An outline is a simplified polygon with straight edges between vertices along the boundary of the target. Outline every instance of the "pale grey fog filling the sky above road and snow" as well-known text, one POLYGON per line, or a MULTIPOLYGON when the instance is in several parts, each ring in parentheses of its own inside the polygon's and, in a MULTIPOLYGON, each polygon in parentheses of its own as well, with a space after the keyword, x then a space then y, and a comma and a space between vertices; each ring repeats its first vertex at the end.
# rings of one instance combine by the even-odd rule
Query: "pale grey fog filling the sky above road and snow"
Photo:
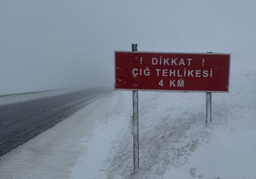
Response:
POLYGON ((231 53, 255 71, 256 1, 0 1, 0 95, 114 87, 114 50, 231 53))

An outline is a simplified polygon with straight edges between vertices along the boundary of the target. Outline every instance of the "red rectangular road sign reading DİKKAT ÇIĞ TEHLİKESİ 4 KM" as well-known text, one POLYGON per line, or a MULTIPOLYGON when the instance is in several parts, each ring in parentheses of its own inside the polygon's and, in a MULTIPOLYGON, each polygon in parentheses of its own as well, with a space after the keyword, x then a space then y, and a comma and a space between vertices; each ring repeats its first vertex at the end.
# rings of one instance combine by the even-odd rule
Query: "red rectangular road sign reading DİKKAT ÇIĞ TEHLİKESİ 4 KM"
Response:
POLYGON ((229 92, 230 54, 115 51, 115 90, 229 92))

